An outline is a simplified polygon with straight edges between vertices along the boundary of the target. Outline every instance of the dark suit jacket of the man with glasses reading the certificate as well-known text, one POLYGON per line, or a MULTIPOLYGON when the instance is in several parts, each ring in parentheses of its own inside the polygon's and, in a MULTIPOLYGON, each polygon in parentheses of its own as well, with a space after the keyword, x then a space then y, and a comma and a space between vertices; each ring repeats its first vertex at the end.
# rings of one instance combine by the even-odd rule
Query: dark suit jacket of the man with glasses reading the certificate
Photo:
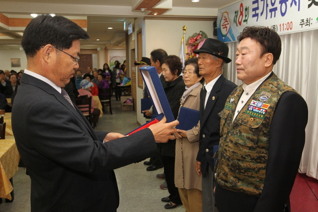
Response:
POLYGON ((12 110, 16 145, 31 178, 32 212, 115 212, 113 169, 156 154, 150 129, 103 143, 53 87, 23 74, 12 110))

